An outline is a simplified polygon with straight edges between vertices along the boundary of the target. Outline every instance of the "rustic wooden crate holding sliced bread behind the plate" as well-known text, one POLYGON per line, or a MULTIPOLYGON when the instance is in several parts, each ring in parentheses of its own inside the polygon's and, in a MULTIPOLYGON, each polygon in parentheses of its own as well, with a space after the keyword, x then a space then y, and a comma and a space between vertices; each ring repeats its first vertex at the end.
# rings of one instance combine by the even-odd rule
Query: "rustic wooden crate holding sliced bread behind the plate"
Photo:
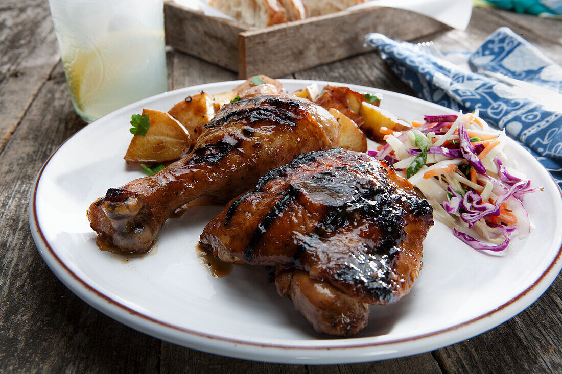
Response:
POLYGON ((284 76, 368 52, 364 38, 370 32, 411 40, 448 28, 418 13, 387 7, 343 11, 256 29, 166 1, 164 20, 166 44, 237 71, 240 78, 284 76))

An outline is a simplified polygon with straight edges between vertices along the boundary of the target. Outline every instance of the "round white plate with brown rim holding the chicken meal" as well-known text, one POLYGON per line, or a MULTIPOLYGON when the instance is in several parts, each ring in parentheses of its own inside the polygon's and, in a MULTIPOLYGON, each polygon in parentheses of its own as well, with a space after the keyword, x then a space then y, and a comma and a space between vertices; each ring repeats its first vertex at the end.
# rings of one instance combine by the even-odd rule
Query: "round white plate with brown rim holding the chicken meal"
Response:
MULTIPOLYGON (((288 92, 310 84, 282 82, 288 92)), ((31 194, 31 232, 51 270, 85 302, 146 334, 211 353, 282 363, 347 363, 427 352, 481 334, 533 303, 558 275, 560 190, 514 142, 508 153, 534 186, 545 188, 525 197, 536 226, 531 236, 513 240, 494 256, 469 248, 437 222, 424 241, 424 266, 410 294, 394 305, 372 307, 368 327, 351 339, 316 335, 268 284, 262 267, 236 266, 220 279, 210 275, 195 247, 220 207, 194 207, 169 220, 146 256, 126 259, 101 252, 86 209, 108 188, 144 175, 123 160, 131 115, 142 108, 166 111, 186 95, 224 92, 237 84, 194 86, 130 104, 84 127, 47 160, 31 194)), ((381 106, 406 120, 451 112, 406 95, 383 95, 381 106)))

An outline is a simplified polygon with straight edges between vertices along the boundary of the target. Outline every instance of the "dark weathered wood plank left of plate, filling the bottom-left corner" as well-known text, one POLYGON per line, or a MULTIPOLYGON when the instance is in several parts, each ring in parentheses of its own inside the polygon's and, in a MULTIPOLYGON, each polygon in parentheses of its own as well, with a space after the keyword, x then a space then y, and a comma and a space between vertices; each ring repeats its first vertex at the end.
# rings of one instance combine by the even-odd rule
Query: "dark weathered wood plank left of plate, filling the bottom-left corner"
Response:
POLYGON ((157 370, 160 341, 75 297, 31 239, 27 206, 35 175, 83 125, 59 64, 0 154, 0 372, 157 370))

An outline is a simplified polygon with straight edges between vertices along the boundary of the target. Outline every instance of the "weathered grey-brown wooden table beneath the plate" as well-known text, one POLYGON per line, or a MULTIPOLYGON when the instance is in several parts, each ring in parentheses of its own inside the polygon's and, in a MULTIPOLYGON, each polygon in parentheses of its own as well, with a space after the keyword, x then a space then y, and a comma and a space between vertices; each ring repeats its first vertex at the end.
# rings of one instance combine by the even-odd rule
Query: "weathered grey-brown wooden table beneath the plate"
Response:
MULTIPOLYGON (((476 8, 468 30, 424 40, 473 49, 509 26, 562 65, 562 22, 476 8)), ((416 40, 423 41, 423 40, 416 40)), ((236 79, 183 53, 168 53, 170 89, 236 79)), ((414 95, 377 53, 292 76, 414 95)), ((0 372, 560 372, 562 277, 531 307, 482 335, 382 362, 337 366, 244 361, 166 343, 121 325, 71 293, 39 256, 28 225, 35 176, 59 144, 84 126, 75 115, 46 0, 0 5, 0 372)))

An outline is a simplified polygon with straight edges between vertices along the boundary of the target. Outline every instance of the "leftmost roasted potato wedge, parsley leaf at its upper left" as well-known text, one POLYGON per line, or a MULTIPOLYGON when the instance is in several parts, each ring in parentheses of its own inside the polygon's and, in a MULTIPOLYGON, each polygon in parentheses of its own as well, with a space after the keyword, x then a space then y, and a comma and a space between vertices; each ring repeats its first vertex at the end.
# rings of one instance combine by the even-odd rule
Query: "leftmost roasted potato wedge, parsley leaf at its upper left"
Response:
POLYGON ((134 135, 125 153, 128 162, 165 162, 183 156, 191 146, 191 138, 178 121, 168 113, 143 109, 150 126, 146 135, 134 135))

